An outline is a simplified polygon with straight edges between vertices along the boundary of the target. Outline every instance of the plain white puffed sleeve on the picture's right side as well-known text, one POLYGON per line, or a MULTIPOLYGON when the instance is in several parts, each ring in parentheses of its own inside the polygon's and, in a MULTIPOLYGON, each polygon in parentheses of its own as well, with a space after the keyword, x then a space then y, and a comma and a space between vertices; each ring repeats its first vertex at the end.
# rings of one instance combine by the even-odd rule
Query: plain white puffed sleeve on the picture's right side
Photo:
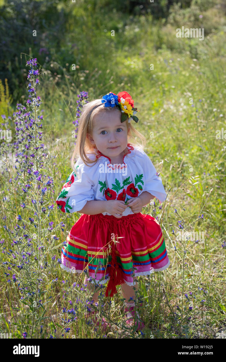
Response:
POLYGON ((159 203, 162 203, 167 197, 167 193, 162 184, 162 178, 156 175, 157 171, 148 155, 146 155, 145 152, 143 152, 143 154, 143 172, 145 176, 143 191, 149 192, 159 200, 159 203))

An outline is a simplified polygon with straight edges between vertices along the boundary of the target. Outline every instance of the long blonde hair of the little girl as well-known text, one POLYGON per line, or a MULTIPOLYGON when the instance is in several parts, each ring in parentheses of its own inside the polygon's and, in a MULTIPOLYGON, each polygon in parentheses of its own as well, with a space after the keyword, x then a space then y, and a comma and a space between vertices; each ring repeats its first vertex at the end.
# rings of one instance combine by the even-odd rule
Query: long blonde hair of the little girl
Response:
MULTIPOLYGON (((120 112, 118 107, 115 105, 114 107, 105 107, 104 103, 101 103, 101 98, 92 100, 83 105, 82 113, 79 118, 79 125, 78 125, 78 133, 76 138, 76 145, 74 148, 74 152, 71 157, 71 167, 75 171, 74 168, 74 158, 76 159, 80 156, 83 163, 87 166, 89 164, 95 164, 97 162, 97 158, 95 160, 91 160, 86 156, 86 153, 93 153, 96 154, 95 149, 96 145, 93 146, 92 143, 87 138, 87 134, 92 136, 93 133, 93 118, 95 115, 100 115, 103 112, 120 112)), ((144 148, 146 145, 146 138, 140 132, 138 132, 126 119, 127 130, 128 132, 128 143, 131 146, 138 146, 140 148, 144 148), (137 137, 141 140, 141 143, 137 143, 137 137), (132 143, 130 140, 133 139, 135 142, 132 143)))

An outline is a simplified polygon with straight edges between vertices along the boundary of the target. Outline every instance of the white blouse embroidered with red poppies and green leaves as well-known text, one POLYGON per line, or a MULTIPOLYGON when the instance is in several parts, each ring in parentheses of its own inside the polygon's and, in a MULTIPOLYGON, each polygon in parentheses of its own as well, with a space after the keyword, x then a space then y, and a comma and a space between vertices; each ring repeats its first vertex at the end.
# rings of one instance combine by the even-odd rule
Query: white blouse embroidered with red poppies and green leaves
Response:
MULTIPOLYGON (((111 164, 109 157, 97 153, 87 156, 97 163, 87 166, 79 157, 73 171, 64 183, 56 203, 62 212, 80 211, 87 201, 91 200, 123 200, 138 197, 143 191, 155 196, 159 203, 166 199, 161 177, 150 158, 139 147, 127 144, 128 151, 124 155, 123 164, 111 164)), ((103 215, 111 215, 102 212, 103 215)), ((133 214, 130 207, 122 216, 133 214)))

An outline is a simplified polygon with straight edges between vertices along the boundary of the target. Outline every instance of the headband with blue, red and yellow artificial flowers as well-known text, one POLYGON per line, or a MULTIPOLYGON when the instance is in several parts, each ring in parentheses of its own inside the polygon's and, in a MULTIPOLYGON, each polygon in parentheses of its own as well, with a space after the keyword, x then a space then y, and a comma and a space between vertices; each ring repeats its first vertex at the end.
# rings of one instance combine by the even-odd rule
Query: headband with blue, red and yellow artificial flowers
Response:
POLYGON ((115 105, 118 106, 118 109, 122 112, 121 123, 126 121, 126 119, 128 119, 128 123, 130 123, 131 119, 133 119, 135 122, 138 122, 138 118, 135 116, 135 114, 139 111, 137 108, 134 108, 134 101, 129 93, 125 91, 120 92, 117 95, 112 92, 107 93, 102 97, 101 104, 102 103, 104 103, 105 107, 114 107, 115 105))

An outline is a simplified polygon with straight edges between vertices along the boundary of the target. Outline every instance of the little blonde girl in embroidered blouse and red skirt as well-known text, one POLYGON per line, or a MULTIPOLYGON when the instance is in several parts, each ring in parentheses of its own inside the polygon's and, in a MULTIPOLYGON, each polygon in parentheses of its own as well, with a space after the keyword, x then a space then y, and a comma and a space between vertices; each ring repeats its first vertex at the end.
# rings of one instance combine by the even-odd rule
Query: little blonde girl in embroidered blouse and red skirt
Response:
MULTIPOLYGON (((121 285, 128 325, 135 316, 133 287, 137 290, 138 283, 134 279, 170 264, 158 221, 141 213, 151 199, 162 203, 167 194, 142 149, 143 142, 142 146, 128 143, 133 134, 145 140, 130 124, 131 120, 138 122, 136 113, 127 92, 110 92, 83 106, 71 159, 74 171, 56 199, 62 212, 82 214, 63 245, 60 266, 72 273, 88 267, 94 302, 99 295, 94 283, 108 282, 105 296, 113 296, 121 285)), ((103 318, 104 329, 108 327, 105 322, 103 318)), ((144 327, 142 321, 137 325, 144 327)))

